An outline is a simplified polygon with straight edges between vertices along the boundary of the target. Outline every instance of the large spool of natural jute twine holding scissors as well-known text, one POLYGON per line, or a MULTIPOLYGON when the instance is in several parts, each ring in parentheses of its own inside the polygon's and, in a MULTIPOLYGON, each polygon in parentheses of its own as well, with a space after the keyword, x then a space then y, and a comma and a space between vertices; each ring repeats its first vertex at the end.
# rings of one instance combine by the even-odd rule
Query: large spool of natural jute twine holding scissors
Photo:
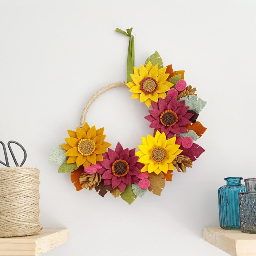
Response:
POLYGON ((39 170, 0 169, 0 237, 37 234, 39 223, 39 170))

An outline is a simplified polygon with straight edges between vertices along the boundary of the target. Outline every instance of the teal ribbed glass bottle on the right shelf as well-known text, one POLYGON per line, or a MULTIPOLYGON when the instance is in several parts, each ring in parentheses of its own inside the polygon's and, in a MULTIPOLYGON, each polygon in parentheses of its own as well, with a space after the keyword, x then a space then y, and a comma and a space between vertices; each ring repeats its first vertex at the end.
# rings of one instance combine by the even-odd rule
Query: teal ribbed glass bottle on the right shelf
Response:
POLYGON ((241 177, 228 177, 227 184, 218 189, 220 227, 240 229, 239 193, 245 192, 241 177))

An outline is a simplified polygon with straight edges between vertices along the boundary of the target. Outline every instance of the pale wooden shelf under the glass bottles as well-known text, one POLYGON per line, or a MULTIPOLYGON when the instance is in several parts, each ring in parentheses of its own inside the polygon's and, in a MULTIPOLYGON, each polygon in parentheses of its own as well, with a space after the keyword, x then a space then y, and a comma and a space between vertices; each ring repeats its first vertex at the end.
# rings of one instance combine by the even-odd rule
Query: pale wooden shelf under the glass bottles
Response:
POLYGON ((256 234, 220 227, 203 228, 203 239, 232 256, 256 256, 256 234))

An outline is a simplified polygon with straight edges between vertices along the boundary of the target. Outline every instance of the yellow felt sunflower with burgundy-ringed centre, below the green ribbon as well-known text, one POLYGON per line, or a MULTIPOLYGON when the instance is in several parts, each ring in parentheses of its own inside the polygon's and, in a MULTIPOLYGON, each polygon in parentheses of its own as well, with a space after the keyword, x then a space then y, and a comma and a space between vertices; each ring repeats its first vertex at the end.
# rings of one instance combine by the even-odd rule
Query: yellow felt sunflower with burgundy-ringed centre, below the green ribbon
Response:
POLYGON ((164 99, 167 91, 174 84, 166 81, 169 74, 165 74, 166 67, 158 69, 158 64, 153 66, 149 61, 146 67, 140 65, 140 69, 134 67, 134 74, 131 74, 132 82, 126 85, 133 93, 132 99, 140 99, 147 107, 151 101, 157 102, 159 97, 164 99))

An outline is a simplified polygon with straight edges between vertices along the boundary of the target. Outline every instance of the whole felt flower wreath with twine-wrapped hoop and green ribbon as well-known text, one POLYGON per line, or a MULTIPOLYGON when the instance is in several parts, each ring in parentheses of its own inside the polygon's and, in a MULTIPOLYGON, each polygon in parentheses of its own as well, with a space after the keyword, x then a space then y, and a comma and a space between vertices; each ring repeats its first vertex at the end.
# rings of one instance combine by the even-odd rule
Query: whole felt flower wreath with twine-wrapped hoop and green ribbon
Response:
POLYGON ((76 131, 54 148, 49 162, 60 164, 59 172, 70 172, 77 191, 95 189, 102 197, 107 192, 131 204, 137 196, 147 192, 161 195, 166 181, 172 181, 173 170, 186 172, 204 152, 195 143, 206 128, 197 121, 206 102, 197 97, 196 88, 187 86, 184 70, 173 71, 163 66, 155 52, 140 68, 134 67, 134 39, 132 28, 127 58, 127 83, 117 82, 97 91, 86 103, 76 131), (95 99, 105 91, 127 86, 133 99, 140 99, 150 107, 145 119, 153 128, 152 135, 142 137, 142 144, 128 149, 117 143, 113 149, 105 141, 104 128, 89 126, 86 114, 95 99))

